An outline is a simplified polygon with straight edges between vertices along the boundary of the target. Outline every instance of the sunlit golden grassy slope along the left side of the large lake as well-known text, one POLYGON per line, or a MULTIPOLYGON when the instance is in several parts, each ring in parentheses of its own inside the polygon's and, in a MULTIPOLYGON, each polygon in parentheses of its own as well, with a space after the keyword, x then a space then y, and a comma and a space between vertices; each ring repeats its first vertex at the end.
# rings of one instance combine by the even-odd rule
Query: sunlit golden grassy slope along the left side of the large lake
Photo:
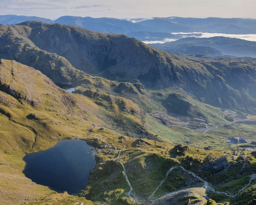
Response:
MULTIPOLYGON (((68 194, 61 196, 32 183, 22 173, 22 158, 25 153, 48 149, 62 139, 92 139, 94 131, 88 128, 96 126, 98 130, 107 125, 101 119, 101 108, 87 97, 67 93, 41 72, 14 61, 1 60, 0 90, 0 190, 4 194, 0 204, 87 201, 68 194)), ((101 131, 101 136, 104 133, 118 135, 108 129, 101 131)))

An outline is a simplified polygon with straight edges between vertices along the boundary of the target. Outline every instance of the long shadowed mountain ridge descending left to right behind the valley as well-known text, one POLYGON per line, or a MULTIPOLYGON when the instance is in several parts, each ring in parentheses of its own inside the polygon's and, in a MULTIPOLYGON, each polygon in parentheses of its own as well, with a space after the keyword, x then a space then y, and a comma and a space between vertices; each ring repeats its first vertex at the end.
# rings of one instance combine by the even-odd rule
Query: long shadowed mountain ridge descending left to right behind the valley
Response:
POLYGON ((64 78, 66 83, 77 81, 79 84, 79 81, 87 81, 86 78, 92 79, 81 71, 89 74, 94 72, 94 75, 98 74, 108 80, 140 82, 146 88, 178 87, 201 102, 215 107, 235 107, 241 111, 254 112, 251 107, 254 100, 249 100, 255 98, 250 84, 255 82, 253 59, 239 62, 240 59, 233 58, 225 63, 220 60, 222 67, 215 67, 211 63, 200 62, 200 58, 191 60, 178 57, 125 35, 92 32, 75 26, 42 22, 1 25, 0 41, 0 57, 4 59, 18 60, 28 66, 40 65, 38 69, 45 74, 51 74, 52 69, 58 67, 51 77, 58 80, 55 83, 61 83, 64 78), (29 50, 31 54, 28 55, 29 50), (52 59, 51 64, 42 60, 45 56, 46 59, 52 59), (58 61, 61 66, 56 64, 58 61), (242 85, 240 87, 236 86, 237 82, 229 74, 230 64, 234 73, 243 73, 240 78, 235 78, 242 85), (250 81, 245 80, 247 76, 251 76, 250 81), (73 80, 68 81, 68 78, 73 80))

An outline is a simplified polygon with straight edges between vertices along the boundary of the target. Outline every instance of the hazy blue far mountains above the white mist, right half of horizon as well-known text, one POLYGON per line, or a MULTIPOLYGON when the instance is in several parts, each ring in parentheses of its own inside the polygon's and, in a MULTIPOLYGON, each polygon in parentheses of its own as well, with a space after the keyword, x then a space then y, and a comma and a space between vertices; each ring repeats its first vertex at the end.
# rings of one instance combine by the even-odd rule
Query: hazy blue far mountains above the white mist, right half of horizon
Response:
POLYGON ((152 18, 132 19, 140 25, 157 28, 161 32, 209 32, 228 34, 249 34, 256 33, 256 19, 224 19, 224 18, 152 18))

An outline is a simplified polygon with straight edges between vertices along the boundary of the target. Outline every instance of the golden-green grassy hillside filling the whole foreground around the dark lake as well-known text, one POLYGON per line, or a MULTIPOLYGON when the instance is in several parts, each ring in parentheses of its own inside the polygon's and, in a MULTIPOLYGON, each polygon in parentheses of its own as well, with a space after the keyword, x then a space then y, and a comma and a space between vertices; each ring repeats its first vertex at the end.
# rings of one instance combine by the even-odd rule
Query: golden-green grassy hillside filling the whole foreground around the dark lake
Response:
MULTIPOLYGON (((82 87, 77 88, 77 93, 81 92, 82 95, 67 93, 40 71, 14 61, 1 60, 0 191, 4 197, 1 197, 0 204, 74 204, 82 201, 85 204, 145 204, 158 198, 160 200, 165 194, 176 192, 177 189, 187 190, 190 187, 194 189, 182 192, 177 203, 194 197, 194 193, 200 193, 196 195, 197 200, 191 198, 194 202, 205 202, 204 192, 211 194, 211 199, 218 203, 236 201, 242 205, 243 194, 252 200, 254 181, 233 199, 205 190, 202 181, 187 170, 207 180, 218 192, 236 194, 256 172, 254 152, 244 149, 245 146, 254 148, 255 145, 253 142, 231 145, 226 138, 241 135, 253 141, 254 125, 225 125, 217 108, 201 102, 194 105, 194 99, 187 95, 171 92, 159 95, 138 89, 132 84, 127 85, 128 88, 134 88, 135 93, 132 95, 131 92, 131 96, 137 95, 141 89, 138 97, 144 102, 152 97, 153 105, 150 107, 153 111, 155 105, 165 101, 172 103, 172 106, 192 104, 198 106, 198 110, 191 112, 190 107, 185 110, 188 115, 197 114, 199 118, 200 110, 207 108, 212 122, 216 123, 211 114, 220 114, 218 123, 224 125, 212 128, 208 133, 189 127, 168 127, 157 120, 158 115, 145 113, 140 107, 142 103, 136 104, 124 97, 82 87), (142 114, 144 119, 141 118, 142 114), (115 119, 118 116, 120 118, 115 119), (88 187, 79 197, 56 193, 24 176, 22 170, 25 162, 22 158, 25 153, 42 151, 63 139, 75 138, 98 148, 97 165, 89 176, 88 187), (115 158, 119 153, 117 162, 115 158), (131 196, 135 201, 127 195, 130 187, 122 174, 124 170, 120 162, 126 169, 133 188, 131 196), (174 166, 179 168, 166 176, 174 166), (162 186, 156 190, 165 177, 162 186)), ((126 88, 119 87, 118 92, 129 93, 126 88)), ((162 110, 172 108, 161 106, 162 110)), ((182 115, 185 122, 194 118, 182 115)), ((169 119, 182 125, 179 118, 169 119)))

